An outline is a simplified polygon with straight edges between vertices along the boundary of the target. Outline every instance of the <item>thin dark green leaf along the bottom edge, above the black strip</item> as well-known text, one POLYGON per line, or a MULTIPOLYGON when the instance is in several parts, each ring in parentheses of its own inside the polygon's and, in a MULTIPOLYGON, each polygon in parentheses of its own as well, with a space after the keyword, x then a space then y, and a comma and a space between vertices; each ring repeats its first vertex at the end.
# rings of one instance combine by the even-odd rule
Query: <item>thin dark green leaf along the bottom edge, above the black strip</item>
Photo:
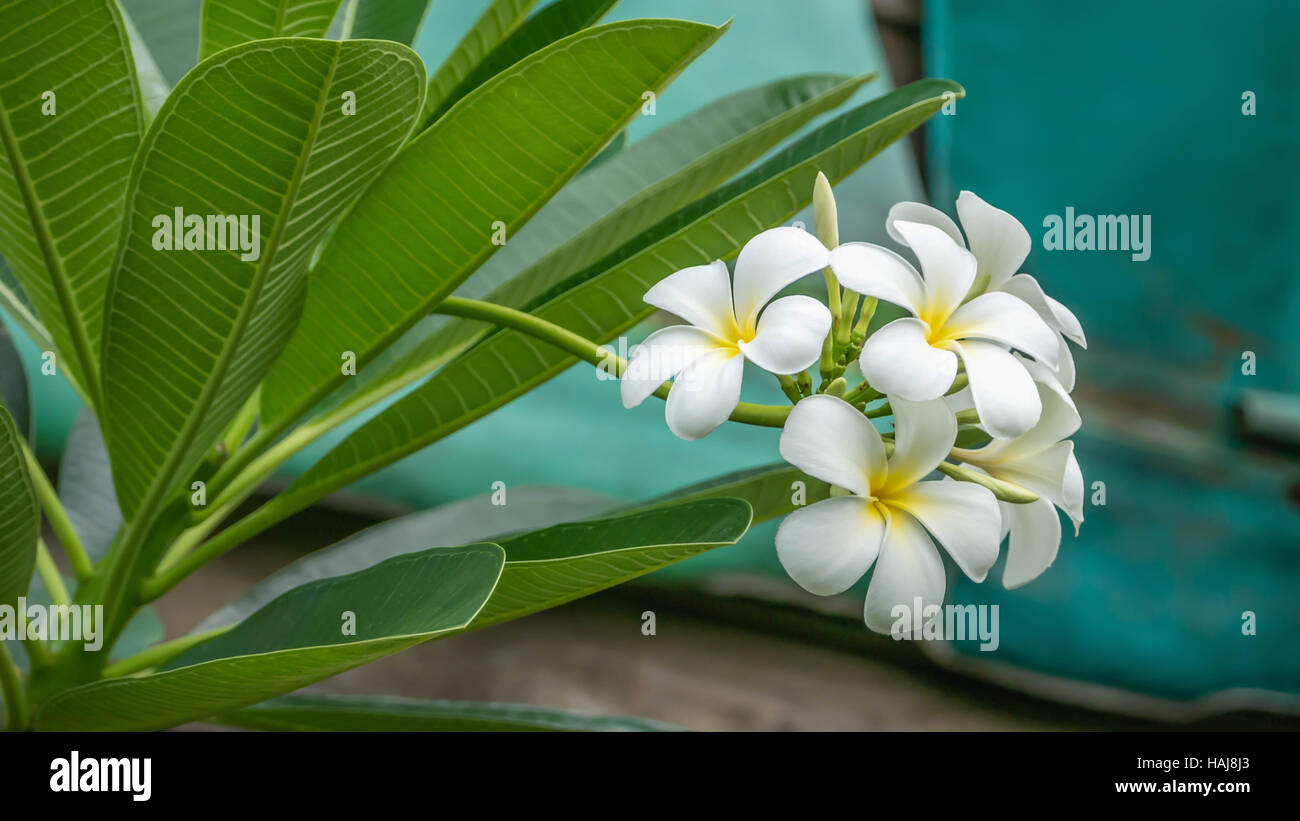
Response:
POLYGON ((382 695, 296 694, 212 718, 250 730, 289 733, 663 733, 647 718, 586 716, 549 707, 442 701, 382 695))

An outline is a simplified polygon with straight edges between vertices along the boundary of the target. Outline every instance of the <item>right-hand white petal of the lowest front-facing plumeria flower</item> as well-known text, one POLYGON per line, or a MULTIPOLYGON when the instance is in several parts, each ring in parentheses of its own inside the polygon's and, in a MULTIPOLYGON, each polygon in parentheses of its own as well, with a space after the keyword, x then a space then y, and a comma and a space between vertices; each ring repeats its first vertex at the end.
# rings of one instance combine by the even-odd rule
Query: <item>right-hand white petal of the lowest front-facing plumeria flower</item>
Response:
POLYGON ((971 482, 920 482, 890 495, 885 504, 924 525, 971 581, 983 582, 997 561, 1002 514, 987 488, 971 482))

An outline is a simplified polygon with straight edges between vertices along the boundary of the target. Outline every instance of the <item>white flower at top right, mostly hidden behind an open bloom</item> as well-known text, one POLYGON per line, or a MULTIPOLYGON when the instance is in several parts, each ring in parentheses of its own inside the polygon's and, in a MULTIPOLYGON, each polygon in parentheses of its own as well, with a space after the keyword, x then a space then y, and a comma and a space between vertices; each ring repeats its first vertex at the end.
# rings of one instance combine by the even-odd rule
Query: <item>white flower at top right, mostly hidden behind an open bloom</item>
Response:
POLYGON ((1088 347, 1083 326, 1069 308, 1043 292, 1039 281, 1028 274, 1017 273, 1030 256, 1032 240, 1020 221, 1000 208, 994 208, 970 191, 962 191, 957 197, 957 216, 966 230, 966 239, 957 223, 948 214, 923 203, 898 203, 889 209, 885 229, 896 242, 910 244, 898 222, 923 222, 932 225, 953 238, 963 248, 970 247, 979 261, 976 279, 985 283, 982 292, 1004 291, 1018 296, 1048 323, 1057 334, 1057 379, 1066 391, 1074 390, 1074 355, 1066 339, 1080 348, 1088 347))

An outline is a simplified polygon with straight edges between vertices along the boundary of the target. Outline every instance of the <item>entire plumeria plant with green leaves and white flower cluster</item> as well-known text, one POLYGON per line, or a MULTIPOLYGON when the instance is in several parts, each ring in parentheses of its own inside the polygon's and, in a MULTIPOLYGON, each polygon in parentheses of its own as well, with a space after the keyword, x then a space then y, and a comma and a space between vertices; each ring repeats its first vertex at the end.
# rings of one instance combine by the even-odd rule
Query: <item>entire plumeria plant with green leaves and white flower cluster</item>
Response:
POLYGON ((0 335, 9 729, 651 726, 294 691, 732 544, 790 513, 794 479, 844 494, 790 513, 783 561, 835 592, 875 560, 872 626, 907 591, 942 596, 927 531, 976 577, 1000 521, 1009 583, 1050 562, 1046 503, 1076 513, 1057 481, 1078 474, 1058 340, 1082 336, 1009 275, 1014 221, 978 203, 968 252, 907 207, 892 225, 924 278, 833 236, 829 183, 959 86, 832 114, 871 78, 792 77, 629 144, 725 23, 493 0, 429 73, 410 48, 426 5, 204 0, 198 53, 178 55, 168 0, 122 3, 130 18, 116 0, 0 3, 0 307, 39 352, 25 370, 0 335), (820 240, 785 225, 814 183, 820 240), (737 253, 734 279, 710 262, 737 253), (779 297, 820 269, 829 305, 779 297), (915 316, 868 336, 878 299, 915 316), (656 308, 686 325, 611 360, 604 346, 656 308), (867 382, 849 387, 859 359, 867 382), (793 412, 740 400, 746 360, 793 412), (625 404, 664 398, 688 439, 725 418, 784 426, 794 468, 649 501, 521 487, 422 511, 164 640, 152 603, 204 565, 578 362, 623 377, 625 404), (34 453, 40 379, 83 405, 57 481, 34 453), (967 404, 967 382, 954 414, 944 396, 967 404), (868 418, 890 413, 897 430, 878 434, 868 418), (979 426, 997 438, 962 449, 979 426), (313 443, 329 447, 285 473, 313 443), (922 481, 935 468, 958 481, 922 481))

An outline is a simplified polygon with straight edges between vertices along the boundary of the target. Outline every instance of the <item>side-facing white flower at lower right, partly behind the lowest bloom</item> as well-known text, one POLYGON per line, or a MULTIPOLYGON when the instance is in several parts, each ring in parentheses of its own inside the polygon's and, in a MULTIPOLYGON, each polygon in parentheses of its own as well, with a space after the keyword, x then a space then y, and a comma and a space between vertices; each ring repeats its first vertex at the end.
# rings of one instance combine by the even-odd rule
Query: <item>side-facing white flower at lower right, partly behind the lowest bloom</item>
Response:
POLYGON ((1056 509, 1083 524, 1083 473, 1069 436, 1079 430, 1079 412, 1052 374, 1028 362, 1037 379, 1043 416, 1015 439, 994 439, 976 449, 953 448, 953 457, 980 468, 997 479, 1015 482, 1039 495, 1028 504, 998 503, 1002 535, 1010 534, 1002 585, 1010 590, 1034 581, 1056 560, 1061 547, 1061 520, 1056 509))

